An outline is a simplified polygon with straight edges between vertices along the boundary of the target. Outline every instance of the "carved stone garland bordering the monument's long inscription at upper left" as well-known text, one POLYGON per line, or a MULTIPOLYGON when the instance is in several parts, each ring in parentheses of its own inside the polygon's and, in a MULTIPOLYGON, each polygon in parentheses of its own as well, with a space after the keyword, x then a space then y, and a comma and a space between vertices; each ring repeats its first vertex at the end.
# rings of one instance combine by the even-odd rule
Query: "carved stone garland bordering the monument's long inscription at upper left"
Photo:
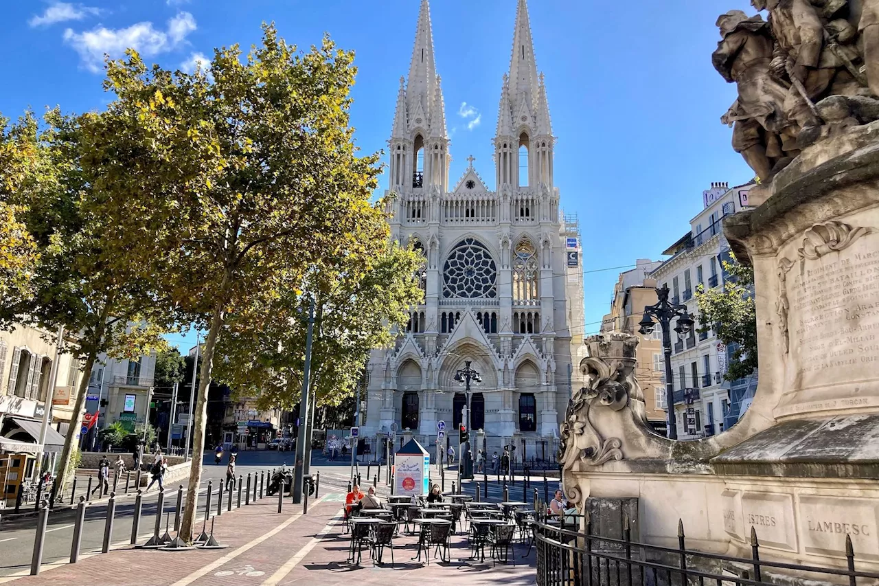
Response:
MULTIPOLYGON (((809 230, 803 232, 803 245, 796 249, 797 257, 800 260, 801 270, 805 260, 817 260, 827 253, 839 252, 845 250, 854 242, 875 232, 874 228, 863 228, 861 226, 852 226, 842 222, 825 222, 816 223, 809 230)), ((778 281, 779 296, 775 302, 775 312, 778 314, 778 327, 781 331, 781 337, 784 341, 784 352, 787 354, 790 350, 790 335, 788 333, 788 311, 790 303, 788 301, 788 272, 795 265, 794 260, 782 258, 778 261, 778 281)))

